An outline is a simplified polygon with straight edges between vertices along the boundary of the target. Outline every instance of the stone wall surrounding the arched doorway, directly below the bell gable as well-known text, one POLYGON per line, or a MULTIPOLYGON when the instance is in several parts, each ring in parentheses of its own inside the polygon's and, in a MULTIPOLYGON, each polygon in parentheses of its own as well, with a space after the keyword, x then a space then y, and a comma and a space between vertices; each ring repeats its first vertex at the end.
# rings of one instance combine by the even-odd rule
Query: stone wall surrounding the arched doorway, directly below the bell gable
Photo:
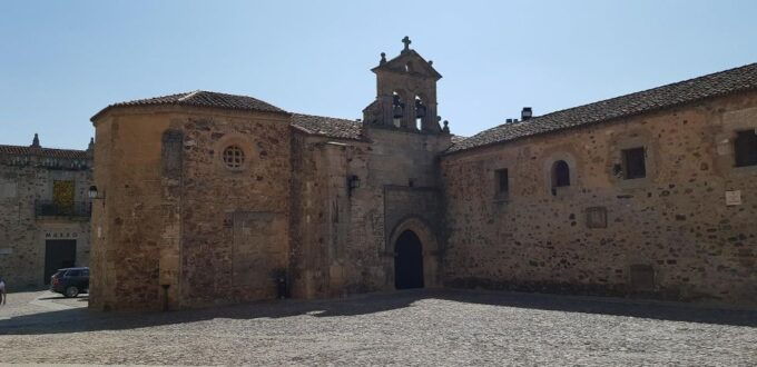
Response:
POLYGON ((438 153, 450 137, 380 128, 365 136, 365 141, 293 138, 295 297, 394 289, 391 237, 403 224, 425 239, 427 284, 438 284, 436 236, 443 227, 438 153), (352 189, 351 177, 357 180, 352 189))

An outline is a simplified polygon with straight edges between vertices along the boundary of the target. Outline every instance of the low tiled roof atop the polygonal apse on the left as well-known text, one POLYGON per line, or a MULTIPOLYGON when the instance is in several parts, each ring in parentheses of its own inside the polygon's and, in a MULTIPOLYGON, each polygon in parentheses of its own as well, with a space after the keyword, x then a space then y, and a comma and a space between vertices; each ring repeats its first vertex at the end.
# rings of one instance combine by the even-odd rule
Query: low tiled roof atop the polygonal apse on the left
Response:
POLYGON ((258 111, 258 112, 274 112, 274 113, 288 113, 283 109, 264 102, 259 99, 237 96, 237 95, 226 95, 205 90, 196 90, 191 92, 176 93, 163 97, 154 97, 146 99, 137 99, 132 101, 118 102, 110 105, 99 112, 97 112, 90 120, 96 120, 105 111, 114 107, 128 107, 128 106, 193 106, 193 107, 215 107, 215 108, 226 108, 233 110, 244 110, 244 111, 258 111))

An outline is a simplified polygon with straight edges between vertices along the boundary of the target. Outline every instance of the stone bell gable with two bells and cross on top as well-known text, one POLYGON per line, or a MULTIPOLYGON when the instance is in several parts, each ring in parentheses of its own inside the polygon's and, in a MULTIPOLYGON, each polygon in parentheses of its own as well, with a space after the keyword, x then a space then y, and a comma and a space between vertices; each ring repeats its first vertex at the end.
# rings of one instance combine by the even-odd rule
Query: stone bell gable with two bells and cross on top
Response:
POLYGON ((376 75, 376 100, 363 109, 366 127, 399 129, 421 133, 446 133, 436 115, 436 81, 442 76, 402 39, 403 50, 392 60, 381 53, 376 75))

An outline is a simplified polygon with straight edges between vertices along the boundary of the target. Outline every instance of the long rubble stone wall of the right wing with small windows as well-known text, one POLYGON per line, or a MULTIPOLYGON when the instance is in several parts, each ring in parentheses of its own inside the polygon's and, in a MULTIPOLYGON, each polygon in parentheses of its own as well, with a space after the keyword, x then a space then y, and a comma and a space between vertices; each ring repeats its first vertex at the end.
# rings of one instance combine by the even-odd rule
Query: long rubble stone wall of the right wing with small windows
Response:
POLYGON ((755 305, 757 169, 731 139, 755 128, 738 95, 445 156, 446 285, 755 305), (622 179, 638 146, 647 177, 622 179), (571 185, 553 190, 557 160, 571 185))

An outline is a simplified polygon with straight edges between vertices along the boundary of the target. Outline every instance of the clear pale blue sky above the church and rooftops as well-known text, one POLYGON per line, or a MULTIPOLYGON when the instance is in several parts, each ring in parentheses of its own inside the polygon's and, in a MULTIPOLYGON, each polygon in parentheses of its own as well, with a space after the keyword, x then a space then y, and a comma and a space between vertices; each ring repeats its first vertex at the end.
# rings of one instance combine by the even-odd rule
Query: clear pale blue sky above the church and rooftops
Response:
POLYGON ((196 89, 361 118, 404 36, 470 136, 756 62, 757 1, 3 0, 0 143, 83 149, 107 105, 196 89))

